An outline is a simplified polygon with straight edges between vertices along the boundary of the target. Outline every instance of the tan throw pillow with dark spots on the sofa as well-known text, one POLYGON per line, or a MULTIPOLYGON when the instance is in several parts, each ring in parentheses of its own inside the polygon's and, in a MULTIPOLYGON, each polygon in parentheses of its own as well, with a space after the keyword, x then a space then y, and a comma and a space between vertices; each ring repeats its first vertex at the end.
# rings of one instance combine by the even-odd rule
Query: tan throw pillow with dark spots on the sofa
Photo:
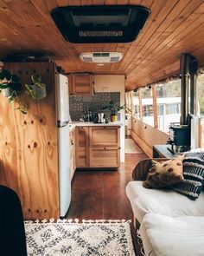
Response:
POLYGON ((182 182, 182 159, 183 156, 162 162, 152 160, 153 165, 150 168, 146 181, 143 181, 143 187, 169 187, 182 182))

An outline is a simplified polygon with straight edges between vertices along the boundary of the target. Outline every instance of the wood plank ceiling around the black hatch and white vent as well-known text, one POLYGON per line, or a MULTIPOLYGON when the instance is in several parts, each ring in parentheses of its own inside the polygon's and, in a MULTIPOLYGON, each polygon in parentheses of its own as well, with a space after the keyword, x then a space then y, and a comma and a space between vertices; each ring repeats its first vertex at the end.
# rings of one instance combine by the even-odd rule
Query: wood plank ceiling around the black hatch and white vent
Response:
POLYGON ((182 52, 204 65, 204 0, 0 0, 0 57, 44 53, 67 73, 125 74, 126 89, 135 89, 179 73, 182 52), (66 5, 137 4, 151 10, 132 43, 67 43, 50 11, 66 5), (124 59, 98 66, 79 54, 119 51, 124 59))

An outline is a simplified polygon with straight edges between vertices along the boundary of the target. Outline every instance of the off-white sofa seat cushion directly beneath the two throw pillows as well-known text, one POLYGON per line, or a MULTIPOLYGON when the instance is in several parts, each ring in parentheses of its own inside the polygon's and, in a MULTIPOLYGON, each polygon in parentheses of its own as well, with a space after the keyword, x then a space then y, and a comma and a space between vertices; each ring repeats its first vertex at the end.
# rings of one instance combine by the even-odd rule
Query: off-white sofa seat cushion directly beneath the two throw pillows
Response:
POLYGON ((143 181, 130 181, 126 194, 137 220, 141 222, 146 213, 158 213, 170 217, 204 216, 204 193, 197 200, 175 192, 172 189, 148 189, 143 181))

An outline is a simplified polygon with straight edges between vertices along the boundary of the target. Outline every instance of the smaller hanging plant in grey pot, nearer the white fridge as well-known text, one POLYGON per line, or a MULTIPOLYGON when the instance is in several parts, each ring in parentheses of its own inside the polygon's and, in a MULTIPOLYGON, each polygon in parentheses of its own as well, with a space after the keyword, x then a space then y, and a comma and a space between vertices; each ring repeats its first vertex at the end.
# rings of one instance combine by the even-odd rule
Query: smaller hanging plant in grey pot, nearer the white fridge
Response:
POLYGON ((46 85, 41 82, 41 76, 31 75, 31 81, 30 84, 25 84, 26 93, 37 100, 46 97, 46 85))

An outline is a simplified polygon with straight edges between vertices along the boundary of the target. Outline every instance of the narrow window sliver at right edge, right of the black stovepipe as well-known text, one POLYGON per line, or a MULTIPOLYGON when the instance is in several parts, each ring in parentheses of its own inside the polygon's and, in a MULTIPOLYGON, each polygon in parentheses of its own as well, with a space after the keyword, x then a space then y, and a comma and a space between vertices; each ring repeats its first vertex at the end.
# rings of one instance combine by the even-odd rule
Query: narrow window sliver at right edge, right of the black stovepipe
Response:
POLYGON ((199 102, 199 113, 201 116, 201 148, 204 148, 204 75, 198 76, 198 102, 199 102))

